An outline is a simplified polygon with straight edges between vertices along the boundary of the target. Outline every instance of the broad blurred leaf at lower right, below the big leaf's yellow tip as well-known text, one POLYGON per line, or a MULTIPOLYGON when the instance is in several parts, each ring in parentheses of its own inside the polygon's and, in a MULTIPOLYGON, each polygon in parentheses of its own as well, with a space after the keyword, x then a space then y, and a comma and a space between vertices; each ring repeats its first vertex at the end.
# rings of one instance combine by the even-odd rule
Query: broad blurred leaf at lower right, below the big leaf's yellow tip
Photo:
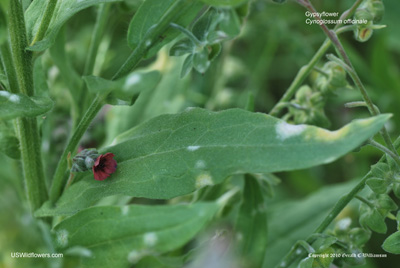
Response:
POLYGON ((339 198, 349 192, 356 181, 325 187, 303 200, 276 204, 268 209, 268 246, 262 267, 279 265, 279 261, 299 240, 305 240, 339 198))

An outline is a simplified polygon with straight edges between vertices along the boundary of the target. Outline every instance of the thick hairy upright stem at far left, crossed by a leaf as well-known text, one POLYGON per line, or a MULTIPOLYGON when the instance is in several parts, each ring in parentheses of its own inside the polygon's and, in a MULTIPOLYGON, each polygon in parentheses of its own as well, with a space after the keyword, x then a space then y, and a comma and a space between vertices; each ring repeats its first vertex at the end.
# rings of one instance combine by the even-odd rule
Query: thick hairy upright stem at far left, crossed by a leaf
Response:
MULTIPOLYGON (((25 50, 28 42, 22 5, 18 0, 10 1, 9 30, 18 88, 22 94, 33 96, 32 54, 25 50)), ((47 200, 36 118, 17 118, 16 130, 20 142, 27 196, 31 211, 34 212, 47 200)))

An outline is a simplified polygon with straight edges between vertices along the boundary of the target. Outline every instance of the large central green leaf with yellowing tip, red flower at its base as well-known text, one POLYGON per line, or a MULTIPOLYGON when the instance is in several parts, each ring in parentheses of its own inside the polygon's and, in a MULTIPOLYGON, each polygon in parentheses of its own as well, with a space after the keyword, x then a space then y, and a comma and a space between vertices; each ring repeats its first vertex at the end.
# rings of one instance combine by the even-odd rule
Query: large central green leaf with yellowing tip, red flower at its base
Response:
POLYGON ((71 214, 102 197, 124 194, 168 199, 232 174, 269 173, 330 163, 378 132, 390 115, 355 120, 337 131, 290 125, 240 109, 187 109, 147 121, 114 140, 116 172, 106 181, 88 174, 38 216, 71 214))

